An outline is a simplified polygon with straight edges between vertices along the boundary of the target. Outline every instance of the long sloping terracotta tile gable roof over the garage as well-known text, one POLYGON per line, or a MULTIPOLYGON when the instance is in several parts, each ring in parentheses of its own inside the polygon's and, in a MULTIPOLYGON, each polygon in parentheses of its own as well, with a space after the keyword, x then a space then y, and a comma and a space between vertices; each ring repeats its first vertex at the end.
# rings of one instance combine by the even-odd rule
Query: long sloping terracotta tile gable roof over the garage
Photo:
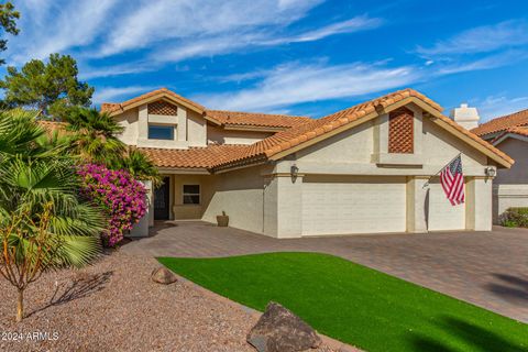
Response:
MULTIPOLYGON (((442 108, 431 99, 427 98, 426 96, 424 96, 422 94, 414 89, 407 88, 407 89, 388 94, 377 99, 359 103, 354 107, 338 111, 324 118, 312 120, 310 122, 300 124, 298 127, 278 132, 272 136, 268 136, 267 139, 264 139, 260 142, 249 145, 246 151, 244 151, 243 153, 233 155, 233 157, 230 161, 226 162, 224 164, 239 163, 248 158, 256 157, 258 155, 271 157, 280 152, 288 151, 289 148, 295 147, 296 145, 314 140, 322 134, 329 133, 344 124, 361 120, 363 117, 370 114, 371 112, 374 112, 376 108, 384 109, 398 101, 402 101, 410 97, 418 98, 419 100, 426 102, 427 105, 429 105, 435 110, 438 110, 439 112, 442 110, 442 108)), ((501 152, 490 143, 485 142, 484 140, 480 139, 475 134, 460 127, 458 123, 453 122, 451 119, 441 114, 439 116, 443 122, 450 124, 452 128, 454 128, 459 132, 471 138, 473 141, 477 142, 483 147, 487 148, 492 153, 505 160, 507 163, 510 163, 510 164, 514 163, 514 161, 508 155, 501 152)))

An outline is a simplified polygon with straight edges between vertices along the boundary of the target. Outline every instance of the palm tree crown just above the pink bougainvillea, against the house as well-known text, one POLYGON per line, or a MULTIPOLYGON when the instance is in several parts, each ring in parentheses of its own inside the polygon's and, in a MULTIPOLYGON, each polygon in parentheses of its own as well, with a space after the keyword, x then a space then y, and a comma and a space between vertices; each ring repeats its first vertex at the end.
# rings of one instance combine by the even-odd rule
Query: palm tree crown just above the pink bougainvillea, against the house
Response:
POLYGON ((85 162, 107 164, 119 160, 125 152, 125 144, 117 138, 123 127, 108 113, 77 108, 66 118, 66 130, 72 133, 73 152, 85 162))

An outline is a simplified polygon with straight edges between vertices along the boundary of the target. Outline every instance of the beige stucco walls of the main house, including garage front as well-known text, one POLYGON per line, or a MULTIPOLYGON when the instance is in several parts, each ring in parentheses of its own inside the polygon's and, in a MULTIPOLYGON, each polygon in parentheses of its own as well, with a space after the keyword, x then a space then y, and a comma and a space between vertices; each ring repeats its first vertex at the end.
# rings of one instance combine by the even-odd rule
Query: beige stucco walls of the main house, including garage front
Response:
MULTIPOLYGON (((216 222, 275 238, 383 232, 491 230, 492 184, 483 152, 408 105, 414 113, 414 153, 388 153, 388 114, 264 165, 170 177, 170 219, 216 222), (437 175, 461 153, 466 201, 451 206, 437 175), (293 166, 298 172, 292 174, 293 166), (183 186, 200 186, 200 204, 183 204, 183 186)), ((119 116, 128 144, 155 147, 252 144, 273 132, 230 131, 178 106, 176 117, 148 116, 146 105, 119 116), (174 124, 175 141, 147 139, 148 123, 174 124), (185 132, 185 133, 184 133, 185 132), (135 144, 134 144, 135 143, 135 144)), ((501 174, 499 174, 501 176, 501 174)), ((528 191, 527 191, 528 194, 528 191)))

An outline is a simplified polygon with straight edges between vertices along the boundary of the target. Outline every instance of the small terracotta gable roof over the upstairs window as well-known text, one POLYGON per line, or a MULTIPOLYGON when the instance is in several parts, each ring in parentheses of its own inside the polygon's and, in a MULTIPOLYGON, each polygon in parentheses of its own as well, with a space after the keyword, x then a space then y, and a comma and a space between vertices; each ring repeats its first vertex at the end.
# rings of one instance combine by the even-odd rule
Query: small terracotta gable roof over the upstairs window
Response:
POLYGON ((206 110, 206 108, 204 108, 202 106, 200 106, 199 103, 193 100, 184 98, 180 95, 177 95, 172 90, 168 90, 167 88, 161 88, 161 89, 146 92, 142 96, 135 97, 133 99, 123 101, 121 103, 103 102, 101 103, 101 112, 108 112, 110 113, 110 116, 117 116, 127 110, 136 108, 141 105, 144 105, 151 101, 156 101, 160 99, 172 100, 198 113, 204 113, 204 111, 206 110))

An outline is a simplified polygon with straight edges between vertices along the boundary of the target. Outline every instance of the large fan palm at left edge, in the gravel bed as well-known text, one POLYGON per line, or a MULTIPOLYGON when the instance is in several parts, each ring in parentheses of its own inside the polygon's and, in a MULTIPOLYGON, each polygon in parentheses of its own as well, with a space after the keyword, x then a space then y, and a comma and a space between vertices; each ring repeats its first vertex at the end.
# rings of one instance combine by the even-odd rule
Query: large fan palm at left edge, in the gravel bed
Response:
POLYGON ((78 196, 79 178, 67 145, 46 143, 28 111, 0 111, 0 276, 24 290, 43 273, 81 267, 100 251, 103 218, 78 196))

